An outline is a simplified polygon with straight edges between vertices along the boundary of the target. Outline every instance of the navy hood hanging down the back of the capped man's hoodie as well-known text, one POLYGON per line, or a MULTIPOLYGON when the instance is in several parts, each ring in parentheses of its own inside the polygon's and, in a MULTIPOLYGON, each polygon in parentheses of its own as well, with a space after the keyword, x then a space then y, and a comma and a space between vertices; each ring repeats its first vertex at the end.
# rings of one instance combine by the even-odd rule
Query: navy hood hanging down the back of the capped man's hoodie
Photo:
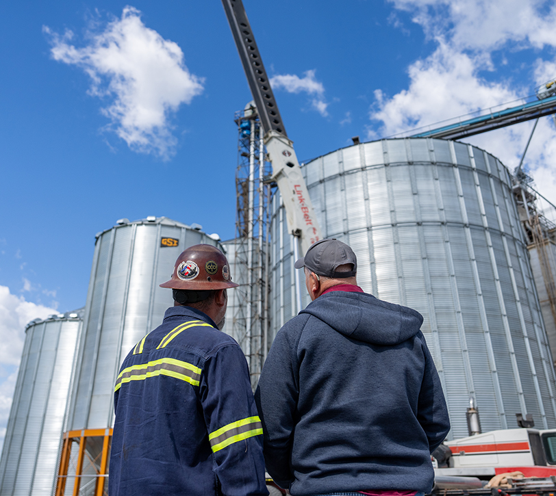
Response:
POLYGON ((419 332, 422 315, 367 293, 331 291, 300 313, 309 313, 344 336, 377 345, 403 343, 419 332))

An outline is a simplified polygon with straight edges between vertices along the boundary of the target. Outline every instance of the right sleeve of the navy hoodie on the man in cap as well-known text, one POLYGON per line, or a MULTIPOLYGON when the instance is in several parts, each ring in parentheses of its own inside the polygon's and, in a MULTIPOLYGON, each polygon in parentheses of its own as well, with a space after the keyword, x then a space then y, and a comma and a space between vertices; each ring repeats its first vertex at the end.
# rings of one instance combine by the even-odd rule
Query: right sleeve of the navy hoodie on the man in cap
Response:
POLYGON ((417 419, 429 439, 429 450, 432 453, 448 434, 450 420, 442 384, 433 362, 433 357, 425 337, 421 332, 420 339, 425 353, 425 374, 423 374, 421 390, 418 400, 417 419))

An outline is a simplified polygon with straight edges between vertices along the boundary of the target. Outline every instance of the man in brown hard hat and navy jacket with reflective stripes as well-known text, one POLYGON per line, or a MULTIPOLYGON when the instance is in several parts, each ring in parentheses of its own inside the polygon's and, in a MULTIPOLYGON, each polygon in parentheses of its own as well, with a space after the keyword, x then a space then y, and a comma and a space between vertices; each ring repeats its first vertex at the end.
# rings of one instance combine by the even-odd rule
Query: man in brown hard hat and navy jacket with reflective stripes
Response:
POLYGON ((174 306, 116 380, 110 496, 268 495, 247 361, 218 330, 238 286, 225 255, 192 246, 160 286, 174 306))

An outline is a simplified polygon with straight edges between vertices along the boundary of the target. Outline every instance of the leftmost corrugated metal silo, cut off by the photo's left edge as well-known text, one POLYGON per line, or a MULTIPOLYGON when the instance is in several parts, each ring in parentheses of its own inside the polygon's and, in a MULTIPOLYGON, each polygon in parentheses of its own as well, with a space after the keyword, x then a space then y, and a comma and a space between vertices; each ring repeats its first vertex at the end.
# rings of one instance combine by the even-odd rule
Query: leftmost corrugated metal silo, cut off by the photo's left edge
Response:
POLYGON ((82 325, 79 317, 64 317, 35 322, 25 331, 0 460, 0 495, 54 491, 82 325))

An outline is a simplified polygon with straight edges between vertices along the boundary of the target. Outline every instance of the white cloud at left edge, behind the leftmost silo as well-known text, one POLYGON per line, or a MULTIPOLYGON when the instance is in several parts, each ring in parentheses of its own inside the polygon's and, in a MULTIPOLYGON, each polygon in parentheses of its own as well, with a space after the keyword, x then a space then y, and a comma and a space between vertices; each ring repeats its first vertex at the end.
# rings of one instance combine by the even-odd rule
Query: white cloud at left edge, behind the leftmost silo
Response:
POLYGON ((25 325, 56 313, 54 309, 28 302, 0 286, 0 445, 10 416, 12 397, 25 341, 25 325))

